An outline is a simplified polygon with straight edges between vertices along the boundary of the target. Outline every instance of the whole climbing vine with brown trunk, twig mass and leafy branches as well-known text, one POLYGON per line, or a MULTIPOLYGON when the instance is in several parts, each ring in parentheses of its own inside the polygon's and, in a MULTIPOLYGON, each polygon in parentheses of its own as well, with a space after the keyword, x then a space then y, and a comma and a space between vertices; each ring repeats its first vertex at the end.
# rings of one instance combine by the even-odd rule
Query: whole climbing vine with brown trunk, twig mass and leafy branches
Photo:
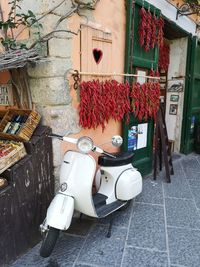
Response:
POLYGON ((36 16, 31 10, 28 10, 27 13, 23 12, 20 6, 20 1, 21 0, 10 0, 10 11, 7 18, 4 17, 0 3, 0 42, 4 49, 1 60, 3 66, 1 70, 8 69, 10 72, 16 105, 20 108, 32 109, 28 74, 24 66, 26 66, 27 62, 33 62, 34 59, 38 59, 39 51, 36 49, 38 48, 36 45, 48 42, 60 32, 77 35, 80 29, 77 32, 60 29, 60 23, 68 19, 74 13, 82 16, 79 13, 80 11, 84 9, 94 9, 99 0, 71 0, 71 9, 66 10, 65 14, 58 17, 55 26, 43 35, 41 34, 41 29, 43 28, 43 25, 41 24, 42 19, 45 16, 52 14, 54 10, 61 7, 68 0, 60 0, 58 4, 53 6, 50 10, 47 10, 41 16, 36 16), (22 32, 31 29, 34 29, 33 32, 35 34, 32 43, 29 42, 29 44, 27 44, 27 42, 18 40, 22 32), (11 63, 8 64, 8 61, 11 63))

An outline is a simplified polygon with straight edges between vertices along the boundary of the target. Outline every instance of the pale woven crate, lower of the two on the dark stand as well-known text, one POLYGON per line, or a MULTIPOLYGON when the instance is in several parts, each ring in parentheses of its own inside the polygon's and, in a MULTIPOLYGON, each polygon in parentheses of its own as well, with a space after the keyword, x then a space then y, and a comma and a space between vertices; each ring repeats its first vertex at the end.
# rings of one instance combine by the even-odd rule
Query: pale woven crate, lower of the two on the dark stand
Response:
MULTIPOLYGON (((6 145, 9 143, 9 141, 0 141, 0 144, 6 145)), ((13 141, 12 143, 15 145, 15 149, 13 149, 8 155, 0 157, 0 174, 26 155, 26 150, 23 143, 17 143, 13 141)))

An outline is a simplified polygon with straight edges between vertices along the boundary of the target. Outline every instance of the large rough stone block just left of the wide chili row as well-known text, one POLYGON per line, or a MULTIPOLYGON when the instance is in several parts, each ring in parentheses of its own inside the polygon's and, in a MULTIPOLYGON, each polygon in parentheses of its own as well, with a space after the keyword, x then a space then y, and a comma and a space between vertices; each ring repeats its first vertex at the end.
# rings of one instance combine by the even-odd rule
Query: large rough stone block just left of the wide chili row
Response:
POLYGON ((67 80, 63 78, 30 79, 33 103, 40 106, 66 105, 71 102, 67 80))

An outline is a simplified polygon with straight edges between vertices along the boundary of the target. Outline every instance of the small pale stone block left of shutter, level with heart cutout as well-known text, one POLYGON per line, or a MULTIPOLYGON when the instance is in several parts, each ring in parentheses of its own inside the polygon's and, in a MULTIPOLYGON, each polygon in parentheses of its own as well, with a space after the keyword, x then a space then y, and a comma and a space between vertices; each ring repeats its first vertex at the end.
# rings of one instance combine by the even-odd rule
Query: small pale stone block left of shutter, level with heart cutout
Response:
POLYGON ((68 58, 72 54, 72 39, 52 38, 48 41, 49 56, 68 58))

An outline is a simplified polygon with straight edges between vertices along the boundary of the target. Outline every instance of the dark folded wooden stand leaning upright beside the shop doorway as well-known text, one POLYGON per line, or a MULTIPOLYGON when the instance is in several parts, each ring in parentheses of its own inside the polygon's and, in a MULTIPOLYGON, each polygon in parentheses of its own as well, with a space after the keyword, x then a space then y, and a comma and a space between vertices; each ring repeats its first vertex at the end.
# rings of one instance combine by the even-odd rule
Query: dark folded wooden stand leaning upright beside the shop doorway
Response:
POLYGON ((154 180, 157 176, 157 164, 159 158, 159 170, 162 170, 162 161, 164 161, 166 180, 168 183, 171 182, 170 175, 174 174, 172 156, 171 156, 171 145, 169 143, 166 123, 164 119, 163 109, 160 107, 155 129, 155 153, 154 153, 154 180))

